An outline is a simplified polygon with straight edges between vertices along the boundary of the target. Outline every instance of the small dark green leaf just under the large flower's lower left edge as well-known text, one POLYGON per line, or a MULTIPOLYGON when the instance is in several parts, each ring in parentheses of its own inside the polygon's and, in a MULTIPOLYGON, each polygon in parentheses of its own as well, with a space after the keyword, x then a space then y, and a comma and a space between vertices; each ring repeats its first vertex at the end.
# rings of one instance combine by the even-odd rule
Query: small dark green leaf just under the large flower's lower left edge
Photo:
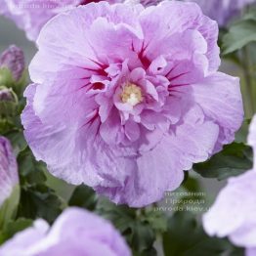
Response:
POLYGON ((68 205, 94 210, 96 208, 97 200, 98 196, 91 188, 85 185, 80 185, 76 187, 72 193, 68 205))

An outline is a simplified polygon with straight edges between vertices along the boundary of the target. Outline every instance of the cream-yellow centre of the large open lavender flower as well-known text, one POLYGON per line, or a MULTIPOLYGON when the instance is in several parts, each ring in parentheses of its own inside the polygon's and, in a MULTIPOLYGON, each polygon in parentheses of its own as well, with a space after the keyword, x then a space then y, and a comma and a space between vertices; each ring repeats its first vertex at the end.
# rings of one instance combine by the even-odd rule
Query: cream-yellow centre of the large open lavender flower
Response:
POLYGON ((133 107, 140 104, 143 101, 141 88, 136 84, 127 83, 123 88, 121 101, 123 103, 130 104, 133 107))

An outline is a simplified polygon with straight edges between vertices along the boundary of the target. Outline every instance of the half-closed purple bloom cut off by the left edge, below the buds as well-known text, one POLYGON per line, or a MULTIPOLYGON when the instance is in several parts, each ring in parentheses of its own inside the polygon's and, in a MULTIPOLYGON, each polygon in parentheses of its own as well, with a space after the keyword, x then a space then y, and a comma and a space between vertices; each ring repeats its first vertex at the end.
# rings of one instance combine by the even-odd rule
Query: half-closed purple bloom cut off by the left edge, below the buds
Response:
POLYGON ((0 208, 18 185, 18 166, 11 144, 0 136, 0 208))

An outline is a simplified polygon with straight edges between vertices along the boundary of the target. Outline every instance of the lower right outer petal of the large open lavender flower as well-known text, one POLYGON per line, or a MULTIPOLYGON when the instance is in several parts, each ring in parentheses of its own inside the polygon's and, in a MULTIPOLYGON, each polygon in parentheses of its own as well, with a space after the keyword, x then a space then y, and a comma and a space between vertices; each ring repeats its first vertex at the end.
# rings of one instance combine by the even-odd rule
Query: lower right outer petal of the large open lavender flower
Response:
MULTIPOLYGON (((184 124, 162 137, 155 148, 146 151, 142 148, 141 156, 131 158, 135 165, 131 168, 133 171, 126 172, 124 186, 112 189, 99 186, 96 190, 117 203, 133 207, 157 201, 165 191, 173 191, 181 185, 182 170, 190 170, 193 162, 209 157, 218 133, 218 125, 204 121, 201 110, 195 107, 185 116, 184 124)), ((133 166, 131 160, 129 163, 126 159, 127 164, 133 166)))

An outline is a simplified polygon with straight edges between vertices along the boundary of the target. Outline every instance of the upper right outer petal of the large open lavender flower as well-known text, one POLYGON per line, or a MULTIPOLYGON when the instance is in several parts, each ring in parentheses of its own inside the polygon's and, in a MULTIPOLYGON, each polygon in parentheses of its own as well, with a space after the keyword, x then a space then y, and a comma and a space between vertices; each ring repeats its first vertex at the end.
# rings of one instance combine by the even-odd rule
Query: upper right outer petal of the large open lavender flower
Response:
MULTIPOLYGON (((218 69, 220 65, 220 50, 217 45, 218 25, 216 21, 203 16, 196 4, 165 1, 156 8, 146 9, 140 21, 146 38, 144 44, 146 53, 151 51, 151 54, 157 56, 168 46, 165 43, 166 37, 194 29, 198 30, 207 42, 206 56, 209 61, 209 71, 218 69)), ((180 43, 184 42, 180 41, 180 43)), ((172 48, 167 49, 169 53, 172 52, 172 48)))

